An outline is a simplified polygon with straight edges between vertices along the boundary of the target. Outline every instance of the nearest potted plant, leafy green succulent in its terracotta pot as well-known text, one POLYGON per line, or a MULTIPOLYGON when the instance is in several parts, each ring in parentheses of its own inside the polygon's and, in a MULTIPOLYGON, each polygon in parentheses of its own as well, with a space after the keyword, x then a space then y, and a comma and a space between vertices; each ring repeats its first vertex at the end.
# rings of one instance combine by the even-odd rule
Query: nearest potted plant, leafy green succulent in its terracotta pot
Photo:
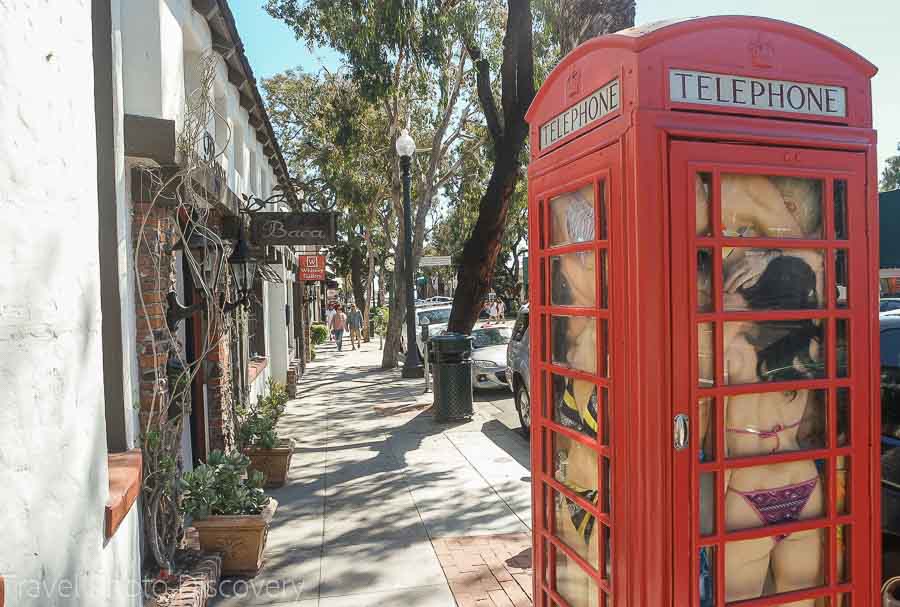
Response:
POLYGON ((222 554, 222 573, 253 576, 262 566, 269 523, 278 502, 263 492, 263 476, 249 472, 242 453, 213 451, 181 480, 182 506, 204 551, 222 554))

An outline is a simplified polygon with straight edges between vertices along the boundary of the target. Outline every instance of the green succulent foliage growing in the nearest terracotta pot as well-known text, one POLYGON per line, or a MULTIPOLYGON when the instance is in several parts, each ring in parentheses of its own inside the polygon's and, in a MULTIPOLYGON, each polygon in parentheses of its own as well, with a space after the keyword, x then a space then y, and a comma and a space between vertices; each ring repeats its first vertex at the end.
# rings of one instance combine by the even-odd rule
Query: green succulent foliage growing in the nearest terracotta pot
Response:
POLYGON ((265 475, 258 470, 248 474, 250 458, 242 453, 209 454, 181 479, 184 490, 182 508, 194 518, 215 515, 259 514, 269 498, 263 492, 265 475), (245 478, 246 477, 246 478, 245 478))

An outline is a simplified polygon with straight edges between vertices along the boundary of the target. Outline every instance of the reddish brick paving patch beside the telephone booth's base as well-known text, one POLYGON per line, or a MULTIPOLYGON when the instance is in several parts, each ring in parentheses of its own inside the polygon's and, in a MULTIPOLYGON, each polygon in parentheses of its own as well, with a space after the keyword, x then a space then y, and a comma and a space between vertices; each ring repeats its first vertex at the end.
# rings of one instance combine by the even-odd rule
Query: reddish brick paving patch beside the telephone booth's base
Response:
POLYGON ((432 545, 459 607, 532 604, 530 535, 444 538, 432 545))

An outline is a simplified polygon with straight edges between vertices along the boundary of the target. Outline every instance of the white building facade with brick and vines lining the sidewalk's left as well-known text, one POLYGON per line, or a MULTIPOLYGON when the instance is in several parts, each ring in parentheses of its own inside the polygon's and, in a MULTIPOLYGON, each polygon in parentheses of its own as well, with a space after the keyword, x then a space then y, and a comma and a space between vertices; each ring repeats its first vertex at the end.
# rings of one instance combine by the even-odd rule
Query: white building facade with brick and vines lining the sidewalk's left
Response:
POLYGON ((225 0, 4 3, 0 68, 0 578, 140 605, 148 434, 189 469, 302 373, 300 251, 251 243, 246 298, 227 263, 248 207, 299 204, 225 0))

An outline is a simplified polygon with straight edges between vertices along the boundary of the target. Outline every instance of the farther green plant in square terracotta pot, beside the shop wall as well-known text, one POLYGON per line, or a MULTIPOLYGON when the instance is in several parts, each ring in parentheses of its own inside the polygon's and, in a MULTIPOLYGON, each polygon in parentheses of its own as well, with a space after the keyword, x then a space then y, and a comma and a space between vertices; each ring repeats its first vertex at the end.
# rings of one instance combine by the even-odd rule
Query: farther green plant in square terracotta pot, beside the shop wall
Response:
POLYGON ((239 413, 237 438, 241 450, 250 458, 250 470, 261 472, 265 486, 274 488, 287 482, 294 441, 279 439, 276 430, 289 399, 287 389, 271 379, 268 387, 267 396, 239 413))

